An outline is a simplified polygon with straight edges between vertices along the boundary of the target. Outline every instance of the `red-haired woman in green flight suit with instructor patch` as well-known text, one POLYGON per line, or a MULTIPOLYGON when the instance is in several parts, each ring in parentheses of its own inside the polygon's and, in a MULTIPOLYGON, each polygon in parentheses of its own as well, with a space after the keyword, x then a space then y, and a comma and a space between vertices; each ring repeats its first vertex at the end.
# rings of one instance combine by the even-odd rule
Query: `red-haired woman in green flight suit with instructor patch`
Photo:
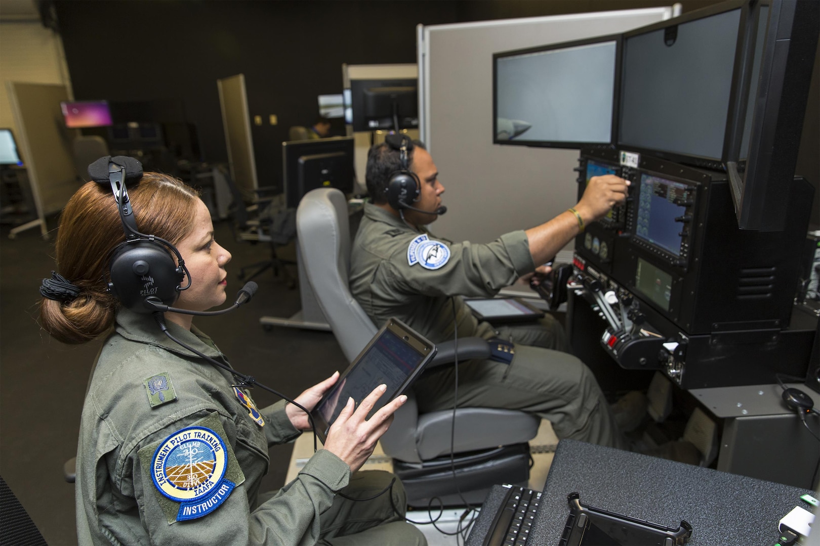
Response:
MULTIPOLYGON (((214 240, 196 192, 145 173, 129 193, 139 231, 170 241, 185 260, 190 287, 175 308, 224 303, 230 252, 214 240)), ((121 226, 111 190, 86 183, 62 212, 59 274, 41 287, 40 323, 55 339, 77 344, 107 336, 80 423, 80 544, 425 544, 404 521, 400 482, 390 487, 394 476, 387 472, 356 472, 406 398, 370 420, 364 417, 381 387, 355 411, 348 403, 325 449, 294 481, 260 494, 268 448, 309 429, 307 415, 284 400, 257 410, 230 372, 177 345, 151 314, 126 309, 107 291, 109 255, 125 240, 121 226)), ((227 363, 191 315, 168 312, 165 319, 176 339, 227 363)), ((312 409, 337 378, 338 372, 296 402, 312 409)))

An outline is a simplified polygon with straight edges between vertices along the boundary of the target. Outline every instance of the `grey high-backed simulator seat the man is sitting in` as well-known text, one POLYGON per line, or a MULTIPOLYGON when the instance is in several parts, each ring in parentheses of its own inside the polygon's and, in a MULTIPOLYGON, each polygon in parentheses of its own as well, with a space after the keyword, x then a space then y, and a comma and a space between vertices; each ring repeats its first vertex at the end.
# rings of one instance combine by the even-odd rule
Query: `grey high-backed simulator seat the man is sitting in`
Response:
MULTIPOLYGON (((307 279, 336 341, 352 361, 376 334, 376 326, 348 287, 351 241, 344 194, 333 188, 308 192, 299 203, 296 222, 307 279)), ((453 365, 453 342, 438 349, 428 369, 453 365)), ((459 339, 458 359, 489 356, 485 340, 459 339)), ((432 497, 449 505, 462 505, 462 498, 480 504, 494 484, 526 485, 527 442, 535 437, 540 422, 540 417, 511 409, 458 408, 453 439, 458 486, 450 459, 452 410, 421 413, 410 392, 380 443, 393 458, 393 472, 401 478, 411 506, 425 507, 432 497)))

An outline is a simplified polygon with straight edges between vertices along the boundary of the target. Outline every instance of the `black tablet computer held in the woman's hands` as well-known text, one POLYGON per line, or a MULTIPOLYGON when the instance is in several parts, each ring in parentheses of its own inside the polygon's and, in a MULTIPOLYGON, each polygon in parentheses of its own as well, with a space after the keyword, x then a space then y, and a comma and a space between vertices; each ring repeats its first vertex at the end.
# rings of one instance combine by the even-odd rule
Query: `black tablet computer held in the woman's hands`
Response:
POLYGON ((313 408, 313 425, 321 442, 325 443, 330 425, 339 417, 348 398, 353 398, 358 407, 373 389, 384 383, 387 390, 376 400, 376 405, 367 415, 370 418, 390 400, 401 395, 435 353, 435 345, 430 341, 398 318, 390 318, 313 408))

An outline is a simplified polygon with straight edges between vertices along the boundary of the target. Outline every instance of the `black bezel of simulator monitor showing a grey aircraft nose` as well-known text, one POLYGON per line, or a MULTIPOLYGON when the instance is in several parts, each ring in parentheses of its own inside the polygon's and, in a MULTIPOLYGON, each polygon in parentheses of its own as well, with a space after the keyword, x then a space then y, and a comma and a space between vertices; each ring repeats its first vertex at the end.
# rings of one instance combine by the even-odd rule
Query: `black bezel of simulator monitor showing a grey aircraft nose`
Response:
MULTIPOLYGON (((609 34, 606 36, 599 36, 596 38, 585 38, 583 40, 574 40, 572 42, 550 43, 538 47, 526 47, 524 49, 516 49, 508 52, 499 52, 493 54, 493 143, 504 146, 528 146, 528 147, 546 147, 546 148, 573 148, 579 149, 581 147, 612 147, 613 142, 617 136, 617 111, 619 105, 619 89, 621 87, 621 58, 622 58, 622 34, 609 34), (609 138, 606 141, 600 142, 583 142, 583 141, 562 141, 562 140, 532 140, 526 138, 499 138, 499 61, 507 59, 511 56, 526 56, 542 52, 553 52, 557 50, 570 50, 579 47, 590 46, 595 44, 612 42, 615 45, 615 55, 613 58, 613 94, 612 94, 612 113, 610 118, 609 138)), ((526 134, 526 133, 522 133, 526 134)))

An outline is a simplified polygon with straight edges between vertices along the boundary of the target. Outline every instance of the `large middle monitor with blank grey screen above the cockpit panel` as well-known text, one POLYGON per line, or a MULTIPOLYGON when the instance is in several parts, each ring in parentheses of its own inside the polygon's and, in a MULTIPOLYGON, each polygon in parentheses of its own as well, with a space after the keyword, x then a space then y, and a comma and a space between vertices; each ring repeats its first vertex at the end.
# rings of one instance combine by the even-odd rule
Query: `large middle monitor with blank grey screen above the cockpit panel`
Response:
POLYGON ((617 145, 722 169, 745 2, 624 34, 617 145))

